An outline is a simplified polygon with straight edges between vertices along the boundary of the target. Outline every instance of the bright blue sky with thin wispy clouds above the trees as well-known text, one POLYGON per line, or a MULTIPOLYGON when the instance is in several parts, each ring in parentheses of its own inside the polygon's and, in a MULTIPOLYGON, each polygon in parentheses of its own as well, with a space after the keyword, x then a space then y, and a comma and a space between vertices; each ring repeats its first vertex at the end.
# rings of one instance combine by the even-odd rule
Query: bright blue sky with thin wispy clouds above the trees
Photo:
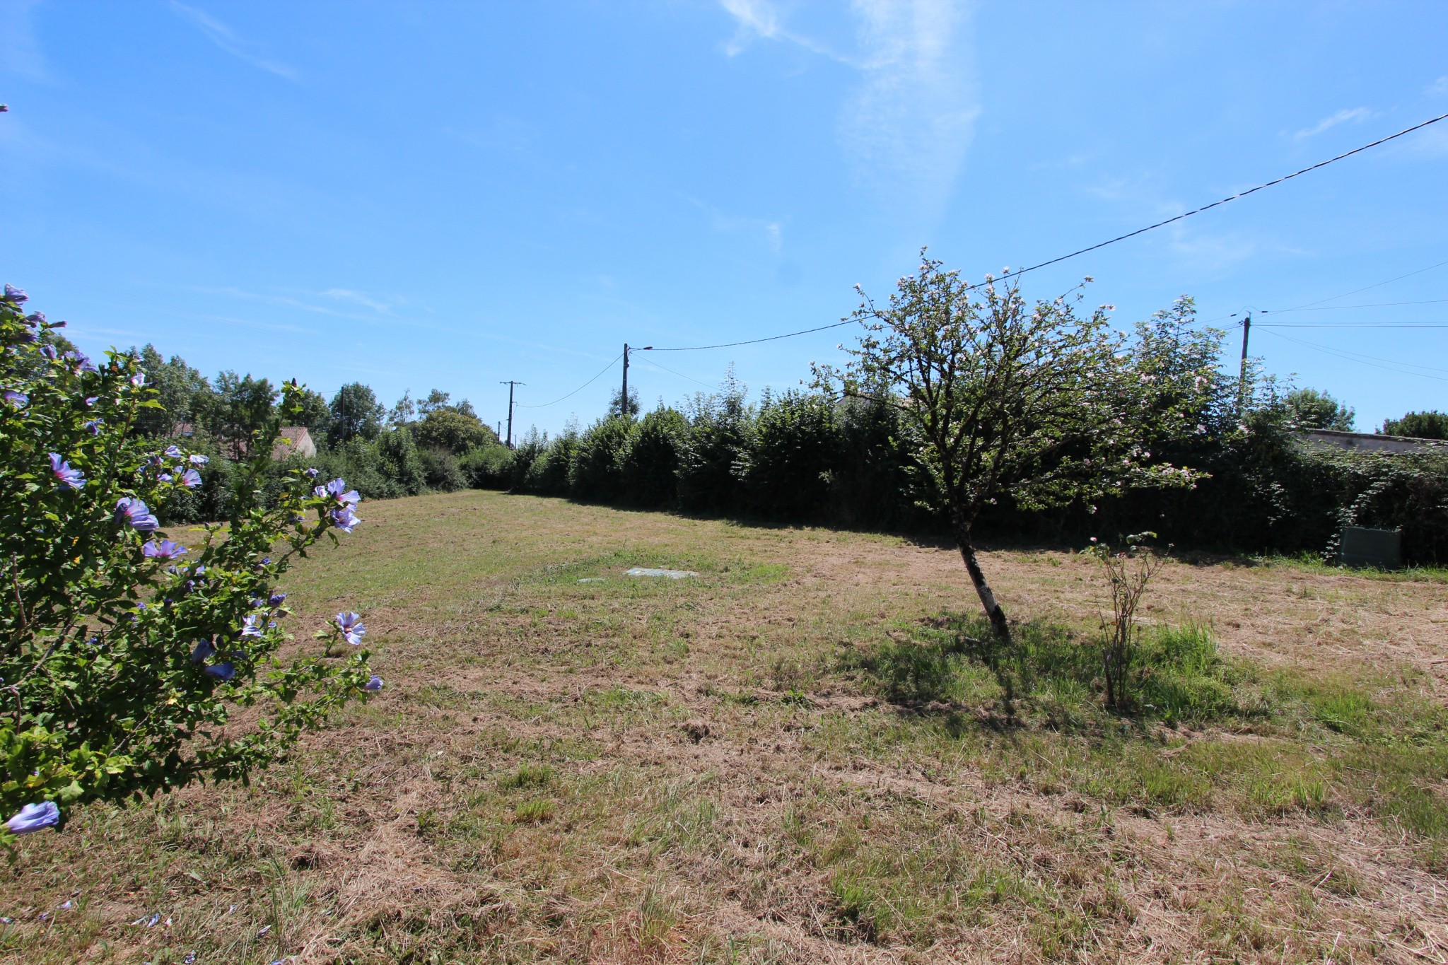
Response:
MULTIPOLYGON (((922 245, 979 278, 1448 113, 1444 38, 1439 1, 0 0, 0 275, 90 352, 497 422, 502 379, 537 405, 624 341, 828 324, 922 245)), ((1444 262, 1448 122, 1022 281, 1090 275, 1124 326, 1180 294, 1441 324, 1444 262)), ((841 333, 630 381, 788 388, 841 333)), ((1448 328, 1254 324, 1253 353, 1360 428, 1448 409, 1448 328)), ((586 422, 617 376, 517 418, 586 422)))

